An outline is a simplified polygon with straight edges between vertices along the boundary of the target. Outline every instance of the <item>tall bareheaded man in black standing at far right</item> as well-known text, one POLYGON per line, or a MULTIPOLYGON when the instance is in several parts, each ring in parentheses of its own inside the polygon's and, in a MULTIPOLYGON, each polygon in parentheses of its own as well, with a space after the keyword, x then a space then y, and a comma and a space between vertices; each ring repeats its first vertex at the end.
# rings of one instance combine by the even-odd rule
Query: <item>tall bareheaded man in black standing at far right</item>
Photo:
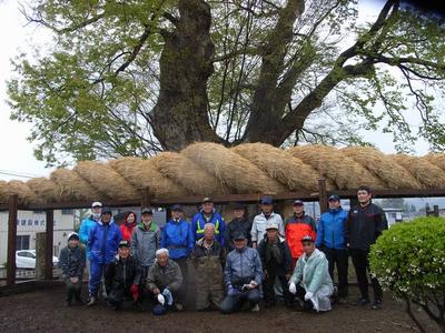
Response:
MULTIPOLYGON (((373 194, 367 186, 359 186, 357 190, 358 205, 350 209, 347 219, 346 241, 353 264, 357 275, 358 287, 362 297, 357 305, 369 304, 368 278, 369 271, 369 248, 374 244, 382 232, 388 228, 385 212, 382 208, 370 202, 373 194)), ((370 278, 374 290, 373 309, 382 309, 383 292, 376 278, 370 278)))

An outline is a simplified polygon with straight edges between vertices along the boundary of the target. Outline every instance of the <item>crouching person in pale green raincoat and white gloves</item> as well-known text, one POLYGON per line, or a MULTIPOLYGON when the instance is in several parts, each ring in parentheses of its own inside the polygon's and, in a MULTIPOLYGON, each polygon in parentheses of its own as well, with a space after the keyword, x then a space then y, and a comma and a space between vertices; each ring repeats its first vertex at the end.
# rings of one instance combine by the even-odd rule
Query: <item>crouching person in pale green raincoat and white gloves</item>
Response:
POLYGON ((297 295, 303 310, 329 311, 334 285, 327 259, 322 251, 315 249, 310 235, 304 236, 301 243, 304 253, 290 278, 289 292, 297 295))

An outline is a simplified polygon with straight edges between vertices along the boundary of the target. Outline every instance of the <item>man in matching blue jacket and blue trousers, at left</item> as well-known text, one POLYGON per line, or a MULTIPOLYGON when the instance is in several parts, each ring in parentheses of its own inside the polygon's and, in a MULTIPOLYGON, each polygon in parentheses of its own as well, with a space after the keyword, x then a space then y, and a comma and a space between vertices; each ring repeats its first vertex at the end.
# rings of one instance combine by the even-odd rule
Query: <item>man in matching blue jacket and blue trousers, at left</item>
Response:
POLYGON ((90 251, 90 281, 88 306, 96 305, 100 280, 117 254, 122 239, 119 226, 111 221, 111 209, 103 208, 100 221, 90 230, 88 249, 90 251))

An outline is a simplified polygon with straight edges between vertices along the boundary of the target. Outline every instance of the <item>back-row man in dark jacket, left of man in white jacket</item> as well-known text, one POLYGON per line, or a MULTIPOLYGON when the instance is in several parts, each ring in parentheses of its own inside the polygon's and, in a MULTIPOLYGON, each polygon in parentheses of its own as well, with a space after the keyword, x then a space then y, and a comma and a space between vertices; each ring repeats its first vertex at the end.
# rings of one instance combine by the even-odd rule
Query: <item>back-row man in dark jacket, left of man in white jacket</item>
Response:
POLYGON ((234 209, 234 219, 226 225, 226 234, 225 241, 226 241, 226 246, 227 251, 231 251, 235 249, 234 246, 234 236, 243 233, 245 238, 247 239, 247 246, 251 246, 251 236, 250 236, 250 230, 251 230, 251 221, 247 218, 247 210, 246 205, 237 202, 233 206, 234 209))

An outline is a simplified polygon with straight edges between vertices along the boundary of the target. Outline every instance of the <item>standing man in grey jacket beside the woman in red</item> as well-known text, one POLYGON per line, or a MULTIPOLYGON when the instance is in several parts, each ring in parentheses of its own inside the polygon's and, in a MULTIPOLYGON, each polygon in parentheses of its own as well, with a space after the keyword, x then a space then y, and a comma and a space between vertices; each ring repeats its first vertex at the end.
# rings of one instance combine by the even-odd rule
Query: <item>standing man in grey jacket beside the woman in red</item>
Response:
POLYGON ((142 210, 141 220, 131 234, 131 255, 138 260, 144 280, 155 263, 156 250, 160 248, 160 230, 152 222, 151 209, 142 210))

